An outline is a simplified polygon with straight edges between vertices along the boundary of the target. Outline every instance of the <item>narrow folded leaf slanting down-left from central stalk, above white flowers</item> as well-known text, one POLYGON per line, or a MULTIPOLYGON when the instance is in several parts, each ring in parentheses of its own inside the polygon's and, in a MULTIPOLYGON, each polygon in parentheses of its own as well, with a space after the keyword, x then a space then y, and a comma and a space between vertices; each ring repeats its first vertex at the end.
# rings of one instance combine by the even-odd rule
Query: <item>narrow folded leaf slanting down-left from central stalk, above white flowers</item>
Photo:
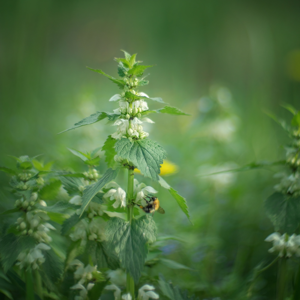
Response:
POLYGON ((104 175, 95 183, 88 185, 83 190, 82 195, 82 205, 81 205, 81 214, 91 201, 91 199, 110 181, 115 179, 119 174, 119 168, 113 170, 112 168, 108 169, 104 175))

